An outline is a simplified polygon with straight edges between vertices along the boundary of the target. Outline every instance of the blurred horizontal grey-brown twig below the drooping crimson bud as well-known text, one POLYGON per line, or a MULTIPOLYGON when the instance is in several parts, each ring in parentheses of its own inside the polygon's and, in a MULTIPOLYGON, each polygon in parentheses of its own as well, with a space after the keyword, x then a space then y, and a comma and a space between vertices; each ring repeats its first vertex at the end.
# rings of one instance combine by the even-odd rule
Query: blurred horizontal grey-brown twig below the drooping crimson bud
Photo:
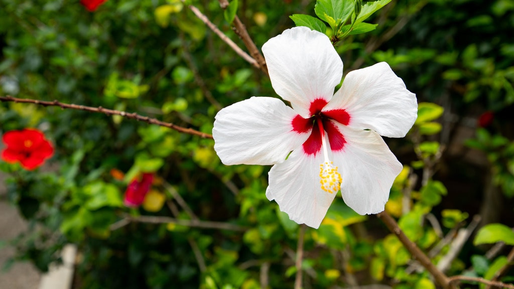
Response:
POLYGON ((246 227, 233 225, 230 223, 223 222, 212 222, 212 221, 199 221, 199 220, 180 220, 169 218, 165 216, 131 216, 124 215, 125 218, 130 220, 131 222, 139 222, 139 223, 150 223, 150 224, 175 224, 179 226, 186 227, 195 227, 195 228, 205 228, 205 229, 220 229, 220 230, 230 230, 230 231, 246 231, 246 227))

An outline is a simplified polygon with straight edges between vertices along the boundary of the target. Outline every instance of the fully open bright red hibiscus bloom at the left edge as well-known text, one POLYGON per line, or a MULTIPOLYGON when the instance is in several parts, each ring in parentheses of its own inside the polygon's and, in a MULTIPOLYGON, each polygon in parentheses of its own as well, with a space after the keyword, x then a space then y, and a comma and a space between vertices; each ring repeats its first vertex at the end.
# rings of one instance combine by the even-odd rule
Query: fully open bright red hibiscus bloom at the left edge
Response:
POLYGON ((14 163, 19 161, 27 170, 33 170, 53 155, 51 143, 45 135, 35 129, 10 131, 2 137, 7 148, 2 151, 2 159, 14 163))

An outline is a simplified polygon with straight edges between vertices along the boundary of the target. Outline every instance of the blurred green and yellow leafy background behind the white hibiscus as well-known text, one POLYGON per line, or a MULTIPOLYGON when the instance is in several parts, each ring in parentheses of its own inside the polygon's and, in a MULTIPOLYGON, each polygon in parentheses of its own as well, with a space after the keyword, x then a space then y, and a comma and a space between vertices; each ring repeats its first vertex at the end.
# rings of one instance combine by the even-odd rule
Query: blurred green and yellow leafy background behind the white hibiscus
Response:
MULTIPOLYGON (((217 1, 188 3, 243 47, 217 1)), ((290 15, 316 16, 314 6, 239 0, 237 15, 261 47, 295 25, 290 15)), ((337 43, 345 73, 386 61, 420 102, 409 135, 386 140, 405 164, 386 210, 435 264, 448 261, 458 232, 501 223, 467 236, 440 265, 492 279, 514 244, 514 1, 393 0, 368 22, 377 29, 337 43), (483 244, 497 241, 507 246, 490 254, 483 244)), ((221 107, 276 95, 173 0, 110 0, 95 12, 78 1, 0 0, 0 48, 0 95, 138 112, 205 133, 221 107)), ((0 104, 2 133, 28 127, 56 153, 38 171, 0 162, 1 197, 30 224, 11 242, 16 260, 45 271, 75 243, 76 288, 292 287, 299 227, 266 199, 269 167, 224 166, 213 140, 122 117, 0 104), (155 173, 153 197, 124 207, 126 186, 143 172, 155 173), (141 216, 228 229, 120 223, 141 216)), ((307 229, 302 269, 305 288, 435 287, 377 218, 341 198, 320 229, 307 229)), ((513 281, 514 272, 498 277, 513 281)))

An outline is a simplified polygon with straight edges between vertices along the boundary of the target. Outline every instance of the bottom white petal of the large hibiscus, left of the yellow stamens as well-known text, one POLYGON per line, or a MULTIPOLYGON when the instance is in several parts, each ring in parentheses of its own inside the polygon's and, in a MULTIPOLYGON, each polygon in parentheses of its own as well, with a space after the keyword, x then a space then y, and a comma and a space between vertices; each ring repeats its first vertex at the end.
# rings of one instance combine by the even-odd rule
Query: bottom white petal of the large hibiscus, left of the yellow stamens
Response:
POLYGON ((266 190, 268 199, 275 200, 289 219, 313 228, 319 227, 336 196, 321 189, 322 162, 322 154, 307 156, 301 149, 295 150, 286 161, 271 168, 266 190))

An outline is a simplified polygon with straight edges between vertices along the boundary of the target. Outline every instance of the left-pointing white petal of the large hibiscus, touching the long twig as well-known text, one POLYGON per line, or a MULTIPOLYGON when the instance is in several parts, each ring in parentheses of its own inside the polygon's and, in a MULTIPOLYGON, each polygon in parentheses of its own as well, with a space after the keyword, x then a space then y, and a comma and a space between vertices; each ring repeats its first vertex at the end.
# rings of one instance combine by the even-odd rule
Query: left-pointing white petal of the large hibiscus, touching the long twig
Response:
POLYGON ((298 114, 282 100, 252 97, 219 111, 212 136, 214 150, 225 165, 273 165, 283 162, 309 133, 292 131, 298 114))

